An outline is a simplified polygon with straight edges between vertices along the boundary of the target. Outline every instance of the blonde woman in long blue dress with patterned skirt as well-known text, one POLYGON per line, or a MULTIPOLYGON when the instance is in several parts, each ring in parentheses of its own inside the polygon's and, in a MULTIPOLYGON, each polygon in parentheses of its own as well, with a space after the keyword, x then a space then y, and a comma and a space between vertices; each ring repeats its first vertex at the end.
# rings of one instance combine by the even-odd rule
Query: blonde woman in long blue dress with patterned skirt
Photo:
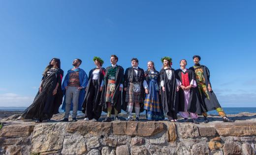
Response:
POLYGON ((148 62, 148 69, 145 71, 145 88, 144 109, 148 120, 160 121, 164 119, 162 103, 160 102, 160 73, 155 69, 153 61, 148 62))

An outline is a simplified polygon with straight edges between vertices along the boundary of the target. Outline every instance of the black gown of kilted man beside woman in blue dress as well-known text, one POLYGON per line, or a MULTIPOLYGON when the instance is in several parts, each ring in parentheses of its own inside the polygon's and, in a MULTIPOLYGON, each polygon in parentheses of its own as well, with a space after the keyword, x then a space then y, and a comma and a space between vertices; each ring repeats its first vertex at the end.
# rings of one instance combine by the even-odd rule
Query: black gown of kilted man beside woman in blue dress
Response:
MULTIPOLYGON (((136 80, 134 79, 134 71, 132 67, 129 67, 126 69, 125 72, 125 78, 124 78, 124 88, 128 87, 128 83, 129 82, 135 82, 136 80)), ((141 102, 140 102, 140 112, 144 111, 144 92, 145 89, 143 87, 143 81, 145 79, 145 74, 144 74, 144 70, 138 67, 138 84, 140 85, 140 89, 141 89, 141 102)), ((127 91, 123 90, 123 104, 122 104, 122 109, 124 111, 127 111, 127 105, 128 103, 126 102, 126 93, 128 93, 128 89, 127 91)), ((135 103, 133 103, 133 108, 132 108, 132 112, 135 112, 135 103)))

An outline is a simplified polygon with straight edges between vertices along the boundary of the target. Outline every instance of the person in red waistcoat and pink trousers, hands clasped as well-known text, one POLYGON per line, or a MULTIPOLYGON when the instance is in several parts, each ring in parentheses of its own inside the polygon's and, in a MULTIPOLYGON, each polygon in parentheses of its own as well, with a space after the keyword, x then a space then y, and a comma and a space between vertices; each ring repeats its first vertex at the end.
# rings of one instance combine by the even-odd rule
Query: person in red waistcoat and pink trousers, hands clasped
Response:
POLYGON ((187 60, 180 61, 180 69, 175 71, 177 84, 179 89, 179 114, 188 122, 189 116, 192 122, 199 124, 195 119, 198 118, 197 114, 202 114, 201 100, 199 92, 196 88, 195 75, 192 70, 186 69, 187 60))

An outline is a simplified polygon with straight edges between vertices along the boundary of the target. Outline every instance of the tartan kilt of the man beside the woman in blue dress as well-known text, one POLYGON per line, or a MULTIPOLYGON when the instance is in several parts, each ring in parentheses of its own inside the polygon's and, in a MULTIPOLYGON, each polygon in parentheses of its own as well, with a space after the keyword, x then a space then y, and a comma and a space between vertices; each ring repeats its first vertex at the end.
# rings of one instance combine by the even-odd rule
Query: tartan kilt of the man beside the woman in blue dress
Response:
POLYGON ((142 88, 140 88, 140 92, 135 93, 133 91, 134 83, 129 82, 126 92, 126 102, 127 103, 134 103, 134 102, 142 102, 142 88))

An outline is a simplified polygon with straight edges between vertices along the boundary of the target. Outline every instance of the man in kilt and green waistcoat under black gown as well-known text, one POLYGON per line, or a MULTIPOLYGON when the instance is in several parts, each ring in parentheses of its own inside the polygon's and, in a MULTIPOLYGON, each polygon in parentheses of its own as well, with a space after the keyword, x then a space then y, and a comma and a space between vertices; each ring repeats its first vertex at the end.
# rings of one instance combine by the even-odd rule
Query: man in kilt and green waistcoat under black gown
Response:
POLYGON ((106 68, 104 76, 100 105, 107 112, 107 117, 102 122, 111 122, 111 114, 115 114, 115 121, 119 120, 117 115, 121 112, 124 69, 117 65, 117 61, 116 55, 110 56, 111 66, 106 68))

